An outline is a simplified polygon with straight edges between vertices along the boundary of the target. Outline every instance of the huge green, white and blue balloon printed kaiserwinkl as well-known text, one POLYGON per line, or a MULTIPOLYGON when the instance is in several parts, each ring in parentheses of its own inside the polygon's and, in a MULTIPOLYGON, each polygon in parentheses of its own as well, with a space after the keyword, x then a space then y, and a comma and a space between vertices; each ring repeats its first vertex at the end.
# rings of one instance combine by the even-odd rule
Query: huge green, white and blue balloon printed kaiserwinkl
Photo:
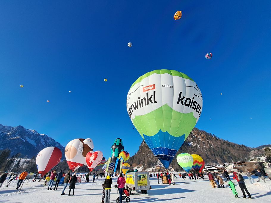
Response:
POLYGON ((132 84, 127 111, 153 154, 168 168, 198 122, 202 95, 195 81, 184 73, 154 70, 132 84))

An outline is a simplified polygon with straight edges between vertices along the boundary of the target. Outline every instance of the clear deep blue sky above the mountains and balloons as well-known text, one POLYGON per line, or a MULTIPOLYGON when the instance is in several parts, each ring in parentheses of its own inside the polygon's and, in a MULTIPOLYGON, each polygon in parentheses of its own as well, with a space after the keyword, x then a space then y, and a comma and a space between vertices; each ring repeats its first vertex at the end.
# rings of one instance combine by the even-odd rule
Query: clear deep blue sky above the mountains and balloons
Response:
POLYGON ((120 137, 133 155, 142 139, 127 92, 141 75, 173 69, 201 89, 197 128, 250 147, 271 144, 270 5, 0 1, 0 123, 63 146, 90 137, 106 157, 120 137), (174 21, 177 10, 183 15, 174 21))

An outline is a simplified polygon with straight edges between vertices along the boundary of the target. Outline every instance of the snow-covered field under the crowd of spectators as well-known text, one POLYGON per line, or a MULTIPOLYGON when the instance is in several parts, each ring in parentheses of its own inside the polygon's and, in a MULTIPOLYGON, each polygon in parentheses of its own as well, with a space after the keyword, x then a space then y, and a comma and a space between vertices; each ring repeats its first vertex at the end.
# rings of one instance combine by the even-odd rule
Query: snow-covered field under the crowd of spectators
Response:
MULTIPOLYGON (((207 176, 205 176, 207 178, 207 176)), ((231 176, 232 177, 232 176, 231 176)), ((131 202, 145 203, 145 202, 271 202, 271 181, 267 178, 266 183, 256 182, 258 178, 254 178, 255 184, 250 184, 245 175, 247 189, 253 199, 244 199, 241 189, 236 180, 232 180, 236 185, 236 190, 239 198, 235 198, 232 191, 225 183, 225 188, 213 189, 209 184, 209 180, 183 180, 178 178, 175 180, 176 185, 157 184, 156 178, 150 178, 152 190, 148 190, 147 194, 132 192, 130 198, 131 202)), ((232 179, 232 178, 231 178, 232 179)), ((93 179, 92 179, 93 180, 93 179)), ((102 196, 103 179, 95 180, 95 182, 76 183, 74 196, 68 196, 68 187, 65 190, 65 195, 60 196, 63 186, 59 185, 57 191, 48 191, 48 186, 43 186, 44 181, 28 182, 28 185, 23 185, 21 192, 16 190, 17 181, 11 183, 6 187, 7 180, 0 188, 0 202, 19 203, 19 202, 91 202, 100 203, 102 196)), ((117 179, 113 179, 115 185, 117 179)), ((54 188, 54 186, 53 186, 54 188)), ((112 187, 110 202, 116 202, 119 195, 117 189, 112 187)), ((125 200, 123 201, 125 202, 125 200)))

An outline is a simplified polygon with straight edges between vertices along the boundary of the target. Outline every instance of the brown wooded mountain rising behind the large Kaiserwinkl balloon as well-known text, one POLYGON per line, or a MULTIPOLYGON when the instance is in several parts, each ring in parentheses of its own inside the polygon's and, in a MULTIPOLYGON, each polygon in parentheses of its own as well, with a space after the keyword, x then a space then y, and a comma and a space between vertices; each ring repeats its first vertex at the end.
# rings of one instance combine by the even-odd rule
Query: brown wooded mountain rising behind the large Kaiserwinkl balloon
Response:
MULTIPOLYGON (((198 154, 203 158, 206 165, 219 165, 249 160, 252 156, 263 155, 263 148, 263 146, 257 149, 235 144, 227 140, 219 139, 217 136, 207 133, 204 130, 194 128, 176 153, 176 156, 180 153, 198 154)), ((148 169, 156 164, 161 164, 158 158, 153 155, 145 141, 142 141, 138 152, 128 160, 128 163, 130 165, 132 164, 133 167, 142 169, 148 169)), ((174 169, 181 169, 176 158, 173 159, 171 166, 173 166, 174 169)))

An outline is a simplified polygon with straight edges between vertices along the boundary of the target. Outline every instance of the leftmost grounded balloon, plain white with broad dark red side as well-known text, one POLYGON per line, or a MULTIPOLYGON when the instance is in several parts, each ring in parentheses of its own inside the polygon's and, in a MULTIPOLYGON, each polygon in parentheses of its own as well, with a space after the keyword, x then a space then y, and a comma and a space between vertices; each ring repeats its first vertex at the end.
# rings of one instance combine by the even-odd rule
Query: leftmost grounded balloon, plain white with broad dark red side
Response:
POLYGON ((54 168, 62 158, 62 152, 57 147, 46 147, 36 158, 39 174, 42 176, 54 168))

